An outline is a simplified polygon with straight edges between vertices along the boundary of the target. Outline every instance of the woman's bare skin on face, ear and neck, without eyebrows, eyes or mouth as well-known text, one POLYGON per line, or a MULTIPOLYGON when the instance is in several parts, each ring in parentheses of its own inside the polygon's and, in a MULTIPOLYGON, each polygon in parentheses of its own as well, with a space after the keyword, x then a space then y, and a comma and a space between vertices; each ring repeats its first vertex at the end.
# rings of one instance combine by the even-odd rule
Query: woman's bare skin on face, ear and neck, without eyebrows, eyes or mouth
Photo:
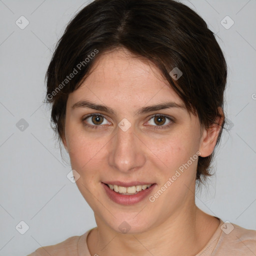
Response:
POLYGON ((153 195, 196 151, 203 157, 212 153, 223 116, 216 119, 219 125, 206 130, 197 115, 183 108, 135 115, 138 108, 167 101, 182 104, 153 64, 124 49, 101 55, 91 74, 68 95, 62 141, 72 169, 80 175, 77 187, 94 211, 97 227, 87 237, 91 255, 195 255, 219 225, 194 202, 198 158, 154 202, 145 198, 120 205, 102 187, 105 180, 144 181, 156 183, 153 195), (72 108, 79 100, 111 107, 115 114, 72 108), (92 113, 102 114, 103 123, 94 124, 91 117, 82 120, 92 113), (159 126, 153 114, 174 122, 166 119, 159 126), (127 131, 118 127, 123 118, 131 123, 127 131), (125 234, 118 228, 123 221, 130 225, 125 234))

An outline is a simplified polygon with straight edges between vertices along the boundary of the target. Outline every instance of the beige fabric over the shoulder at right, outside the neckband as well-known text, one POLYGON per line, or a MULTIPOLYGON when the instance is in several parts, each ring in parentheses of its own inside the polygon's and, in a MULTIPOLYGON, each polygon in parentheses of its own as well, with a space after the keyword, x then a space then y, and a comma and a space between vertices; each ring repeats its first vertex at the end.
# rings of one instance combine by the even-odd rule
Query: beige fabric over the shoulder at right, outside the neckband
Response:
POLYGON ((221 229, 216 251, 221 253, 233 252, 235 253, 233 255, 239 256, 256 255, 256 230, 246 229, 229 222, 224 222, 221 229))

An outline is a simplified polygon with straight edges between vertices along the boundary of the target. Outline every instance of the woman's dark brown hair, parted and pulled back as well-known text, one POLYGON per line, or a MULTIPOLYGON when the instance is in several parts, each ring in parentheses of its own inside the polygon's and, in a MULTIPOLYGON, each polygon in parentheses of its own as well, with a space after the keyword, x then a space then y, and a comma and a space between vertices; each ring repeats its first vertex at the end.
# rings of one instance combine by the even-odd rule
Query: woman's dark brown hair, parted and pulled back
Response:
MULTIPOLYGON (((118 47, 154 63, 188 112, 198 114, 202 127, 221 116, 226 62, 213 32, 195 11, 174 0, 94 0, 68 23, 45 75, 51 127, 59 142, 68 94, 80 86, 100 54, 118 47), (174 67, 182 76, 173 81, 174 67)), ((212 175, 213 153, 199 156, 198 181, 212 175)))

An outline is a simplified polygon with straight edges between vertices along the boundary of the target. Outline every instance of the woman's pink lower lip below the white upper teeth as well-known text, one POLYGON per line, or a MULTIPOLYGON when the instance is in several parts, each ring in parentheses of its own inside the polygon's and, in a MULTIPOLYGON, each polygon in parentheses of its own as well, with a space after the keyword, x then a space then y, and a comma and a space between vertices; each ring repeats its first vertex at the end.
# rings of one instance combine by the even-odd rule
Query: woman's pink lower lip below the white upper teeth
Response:
POLYGON ((145 190, 141 190, 140 192, 136 194, 131 194, 131 195, 126 195, 126 194, 119 194, 116 193, 114 190, 110 189, 108 185, 101 183, 106 191, 106 194, 108 197, 119 204, 123 205, 130 205, 130 204, 135 204, 137 202, 142 201, 145 197, 149 195, 149 193, 153 190, 154 186, 156 185, 155 183, 152 184, 150 187, 148 187, 145 190))

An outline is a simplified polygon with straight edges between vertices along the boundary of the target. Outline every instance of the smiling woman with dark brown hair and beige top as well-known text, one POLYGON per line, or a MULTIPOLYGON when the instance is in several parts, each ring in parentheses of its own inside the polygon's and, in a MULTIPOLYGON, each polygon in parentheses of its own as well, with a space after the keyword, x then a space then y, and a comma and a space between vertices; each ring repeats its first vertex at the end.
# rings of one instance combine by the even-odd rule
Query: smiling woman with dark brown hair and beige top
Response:
POLYGON ((226 63, 173 0, 95 0, 47 70, 51 120, 97 226, 30 255, 255 255, 256 231, 200 210, 225 116, 226 63))

